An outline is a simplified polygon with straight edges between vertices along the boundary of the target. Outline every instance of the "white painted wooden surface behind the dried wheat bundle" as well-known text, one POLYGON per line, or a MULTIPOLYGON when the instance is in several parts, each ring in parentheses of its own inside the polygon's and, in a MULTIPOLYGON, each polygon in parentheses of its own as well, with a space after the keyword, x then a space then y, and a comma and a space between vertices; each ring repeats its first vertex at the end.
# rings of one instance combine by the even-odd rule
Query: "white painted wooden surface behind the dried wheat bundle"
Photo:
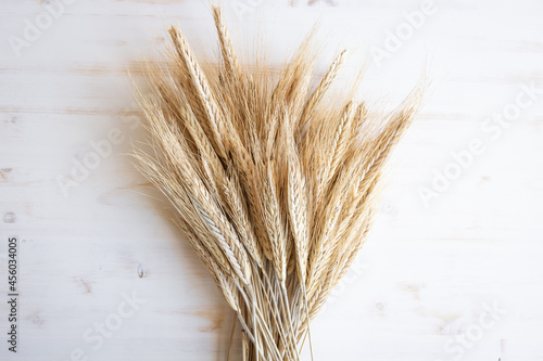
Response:
MULTIPOLYGON (((226 360, 232 314, 125 156, 139 132, 127 70, 141 81, 172 22, 214 52, 209 5, 71 2, 51 24, 38 20, 42 34, 17 57, 13 37, 24 40, 59 0, 0 1, 0 359, 226 360), (125 140, 64 196, 58 178, 114 129, 125 140), (21 240, 16 354, 5 343, 10 235, 21 240), (146 302, 118 318, 132 293, 146 302), (97 336, 104 320, 122 324, 97 336)), ((522 88, 543 89, 543 3, 435 0, 409 34, 404 14, 424 7, 224 1, 240 48, 265 34, 273 64, 319 21, 324 61, 341 47, 366 56, 361 95, 379 106, 396 104, 422 72, 432 79, 371 240, 312 328, 316 360, 543 360, 543 94, 522 88), (376 62, 368 54, 391 49, 389 31, 404 40, 376 62), (507 128, 489 120, 503 112, 507 128), (473 140, 484 152, 455 173, 451 153, 473 140), (458 177, 435 183, 425 206, 434 171, 458 177)))

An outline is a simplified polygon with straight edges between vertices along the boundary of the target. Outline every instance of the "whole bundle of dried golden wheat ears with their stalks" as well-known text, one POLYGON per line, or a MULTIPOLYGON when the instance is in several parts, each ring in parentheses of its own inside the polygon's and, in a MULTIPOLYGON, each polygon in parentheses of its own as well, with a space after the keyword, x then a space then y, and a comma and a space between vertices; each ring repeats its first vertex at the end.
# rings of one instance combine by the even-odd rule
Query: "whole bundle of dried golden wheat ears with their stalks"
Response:
POLYGON ((141 96, 153 151, 135 155, 236 312, 243 360, 300 360, 310 322, 367 237, 383 165, 422 91, 370 117, 354 91, 330 94, 344 51, 318 80, 307 40, 275 79, 238 61, 213 15, 215 66, 169 28, 169 62, 150 67, 141 96))

